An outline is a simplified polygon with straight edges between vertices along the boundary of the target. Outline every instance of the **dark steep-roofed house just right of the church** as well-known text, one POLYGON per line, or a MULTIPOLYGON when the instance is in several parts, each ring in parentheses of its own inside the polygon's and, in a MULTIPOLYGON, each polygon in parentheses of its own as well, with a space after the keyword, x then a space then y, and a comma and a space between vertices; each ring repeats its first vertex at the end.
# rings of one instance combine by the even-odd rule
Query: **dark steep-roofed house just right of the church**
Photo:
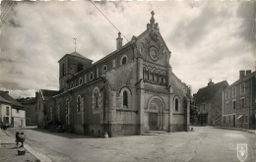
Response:
POLYGON ((212 80, 208 85, 202 87, 194 95, 197 107, 196 125, 217 126, 222 124, 222 94, 228 86, 227 81, 214 83, 212 80))

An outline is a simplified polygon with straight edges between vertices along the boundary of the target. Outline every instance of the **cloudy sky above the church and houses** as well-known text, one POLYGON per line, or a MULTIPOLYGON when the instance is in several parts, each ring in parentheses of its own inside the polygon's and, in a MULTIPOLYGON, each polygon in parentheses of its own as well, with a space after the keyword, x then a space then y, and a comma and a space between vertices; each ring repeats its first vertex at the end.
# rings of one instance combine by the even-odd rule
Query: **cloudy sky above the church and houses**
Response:
MULTIPOLYGON (((95 3, 128 40, 146 30, 154 10, 173 73, 193 93, 210 79, 230 84, 240 70, 255 71, 253 2, 95 3)), ((115 50, 118 31, 89 1, 17 2, 10 13, 1 26, 0 89, 15 98, 58 90, 58 60, 74 51, 74 37, 77 52, 94 61, 115 50)))

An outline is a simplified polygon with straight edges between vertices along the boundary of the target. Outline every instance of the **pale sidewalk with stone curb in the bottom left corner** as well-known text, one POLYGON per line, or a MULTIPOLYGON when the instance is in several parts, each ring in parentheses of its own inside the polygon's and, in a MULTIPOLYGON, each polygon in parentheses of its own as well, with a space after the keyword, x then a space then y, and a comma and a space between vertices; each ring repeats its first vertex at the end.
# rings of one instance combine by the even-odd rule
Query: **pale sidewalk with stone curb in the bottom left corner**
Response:
POLYGON ((39 162, 36 157, 26 149, 25 155, 18 155, 18 148, 16 146, 15 138, 6 134, 6 131, 0 130, 0 161, 5 162, 39 162))

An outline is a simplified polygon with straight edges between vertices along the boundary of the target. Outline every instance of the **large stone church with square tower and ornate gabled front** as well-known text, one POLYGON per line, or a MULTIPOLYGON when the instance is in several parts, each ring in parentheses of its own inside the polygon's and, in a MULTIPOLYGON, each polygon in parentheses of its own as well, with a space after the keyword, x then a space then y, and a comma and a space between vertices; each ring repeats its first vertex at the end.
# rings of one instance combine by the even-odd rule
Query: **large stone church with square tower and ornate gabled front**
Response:
POLYGON ((190 89, 172 72, 154 12, 125 45, 118 33, 116 46, 96 63, 77 52, 59 60, 59 92, 42 105, 44 123, 97 136, 189 130, 190 89))

